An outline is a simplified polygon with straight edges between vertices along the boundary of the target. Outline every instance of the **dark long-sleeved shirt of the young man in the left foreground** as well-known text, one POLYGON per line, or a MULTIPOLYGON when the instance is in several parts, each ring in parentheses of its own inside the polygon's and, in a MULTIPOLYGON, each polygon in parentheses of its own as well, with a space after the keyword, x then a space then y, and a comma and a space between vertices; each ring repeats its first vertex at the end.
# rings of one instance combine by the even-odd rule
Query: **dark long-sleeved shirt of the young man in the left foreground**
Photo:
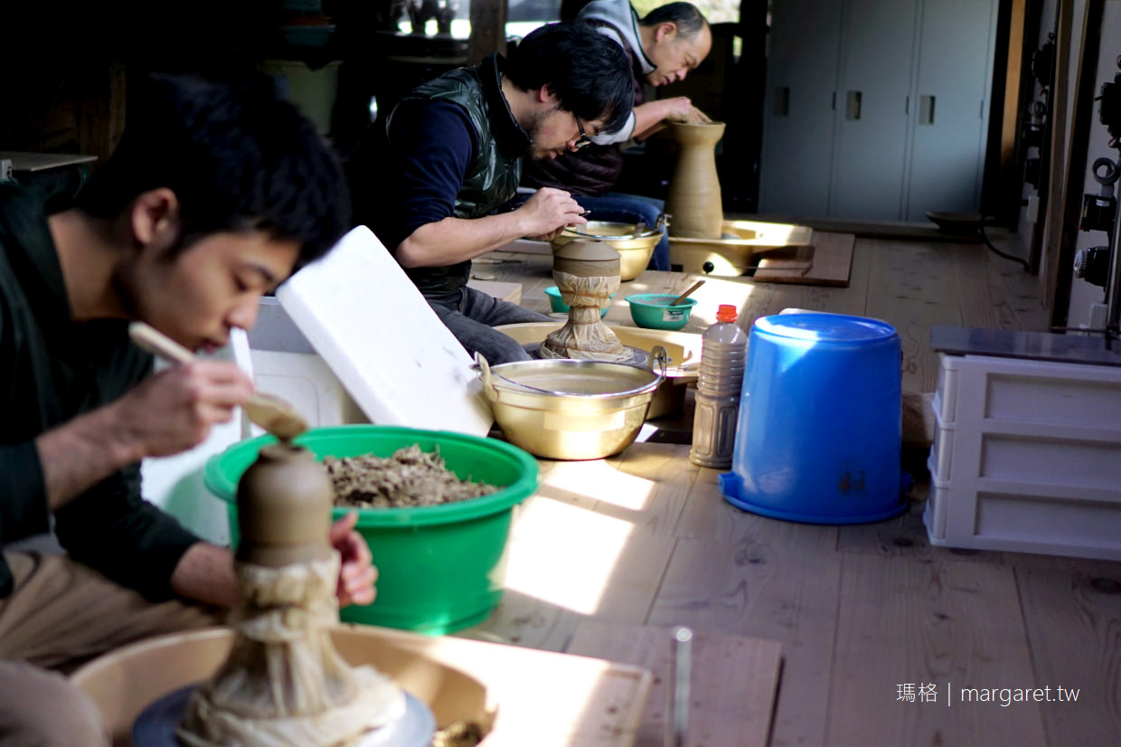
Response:
MULTIPOLYGON (((0 187, 0 544, 46 532, 34 440, 108 404, 151 371, 124 321, 75 322, 40 197, 0 187)), ((140 465, 96 483, 55 513, 70 555, 152 600, 198 538, 140 497, 140 465)), ((12 577, 0 555, 0 597, 12 577)))

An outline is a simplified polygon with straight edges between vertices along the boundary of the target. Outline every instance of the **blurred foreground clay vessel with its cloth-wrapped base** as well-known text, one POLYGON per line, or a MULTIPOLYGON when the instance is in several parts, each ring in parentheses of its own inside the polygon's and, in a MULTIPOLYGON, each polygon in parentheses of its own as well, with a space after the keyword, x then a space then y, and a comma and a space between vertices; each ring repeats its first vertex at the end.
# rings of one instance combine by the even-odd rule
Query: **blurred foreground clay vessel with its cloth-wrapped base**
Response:
POLYGON ((333 504, 326 471, 291 443, 261 449, 245 470, 237 637, 191 697, 176 732, 182 744, 333 747, 406 716, 400 688, 373 667, 351 667, 331 640, 341 563, 330 542, 333 504))

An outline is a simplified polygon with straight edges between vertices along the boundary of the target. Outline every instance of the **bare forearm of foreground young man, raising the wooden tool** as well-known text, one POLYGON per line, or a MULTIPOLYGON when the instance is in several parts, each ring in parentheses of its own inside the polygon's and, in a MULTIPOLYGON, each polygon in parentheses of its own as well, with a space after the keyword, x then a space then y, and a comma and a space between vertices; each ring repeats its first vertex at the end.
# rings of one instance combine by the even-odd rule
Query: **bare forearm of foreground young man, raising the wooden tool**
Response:
POLYGON ((140 461, 143 453, 117 423, 111 406, 98 408, 52 428, 35 440, 46 487, 55 510, 117 470, 140 461))

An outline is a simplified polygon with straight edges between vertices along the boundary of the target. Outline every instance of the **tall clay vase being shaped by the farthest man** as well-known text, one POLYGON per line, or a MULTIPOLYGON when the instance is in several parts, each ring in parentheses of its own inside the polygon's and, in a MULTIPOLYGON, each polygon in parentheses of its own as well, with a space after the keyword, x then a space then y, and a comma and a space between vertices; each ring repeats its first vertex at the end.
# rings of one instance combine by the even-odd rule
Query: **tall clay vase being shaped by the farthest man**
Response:
POLYGON ((724 210, 716 176, 716 142, 724 136, 724 123, 670 122, 669 129, 679 147, 666 196, 669 236, 719 239, 724 210))

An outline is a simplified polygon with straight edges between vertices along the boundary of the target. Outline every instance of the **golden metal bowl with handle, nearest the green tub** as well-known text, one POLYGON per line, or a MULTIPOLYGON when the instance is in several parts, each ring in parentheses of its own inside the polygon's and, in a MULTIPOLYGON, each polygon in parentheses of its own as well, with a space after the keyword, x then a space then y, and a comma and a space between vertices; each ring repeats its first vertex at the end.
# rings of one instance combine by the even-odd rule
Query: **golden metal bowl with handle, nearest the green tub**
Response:
POLYGON ((576 460, 629 446, 665 371, 562 358, 494 367, 480 361, 480 377, 510 443, 535 457, 576 460))

